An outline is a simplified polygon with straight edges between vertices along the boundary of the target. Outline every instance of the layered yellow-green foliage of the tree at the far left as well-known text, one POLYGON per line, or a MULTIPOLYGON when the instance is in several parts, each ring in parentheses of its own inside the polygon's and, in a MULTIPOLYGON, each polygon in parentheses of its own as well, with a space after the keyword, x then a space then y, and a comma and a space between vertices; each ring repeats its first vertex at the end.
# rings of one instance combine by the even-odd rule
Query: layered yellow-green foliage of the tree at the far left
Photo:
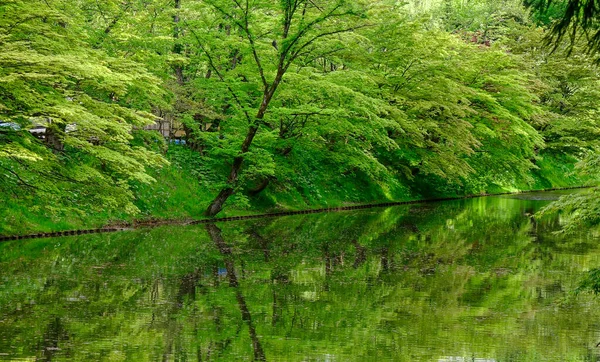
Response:
POLYGON ((0 128, 2 194, 135 212, 128 183, 153 181, 147 167, 164 163, 131 144, 133 127, 155 119, 158 80, 94 49, 70 2, 9 1, 0 13, 0 120, 12 124, 0 128))

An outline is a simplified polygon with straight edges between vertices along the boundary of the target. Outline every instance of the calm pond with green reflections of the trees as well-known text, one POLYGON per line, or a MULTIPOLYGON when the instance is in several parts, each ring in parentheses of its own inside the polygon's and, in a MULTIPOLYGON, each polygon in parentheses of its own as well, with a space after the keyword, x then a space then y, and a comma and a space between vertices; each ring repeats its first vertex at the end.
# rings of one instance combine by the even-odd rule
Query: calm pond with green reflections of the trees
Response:
POLYGON ((0 360, 598 361, 560 193, 0 244, 0 360))

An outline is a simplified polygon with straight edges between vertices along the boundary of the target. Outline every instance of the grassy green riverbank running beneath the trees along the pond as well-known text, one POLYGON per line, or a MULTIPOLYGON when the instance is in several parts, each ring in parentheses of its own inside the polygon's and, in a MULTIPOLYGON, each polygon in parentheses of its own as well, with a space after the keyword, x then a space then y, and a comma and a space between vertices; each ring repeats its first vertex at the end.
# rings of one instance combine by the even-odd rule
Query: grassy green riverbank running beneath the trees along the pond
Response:
MULTIPOLYGON (((202 219, 206 206, 217 192, 219 175, 202 168, 201 160, 184 147, 171 147, 171 164, 152 171, 156 182, 134 184, 138 213, 80 210, 49 205, 36 198, 14 198, 4 194, 0 209, 0 236, 57 235, 74 230, 105 230, 155 225, 190 223, 202 219)), ((580 187, 586 180, 573 173, 574 159, 545 155, 531 171, 530 180, 516 176, 503 183, 486 181, 494 170, 478 171, 477 177, 451 182, 435 176, 401 176, 372 180, 360 173, 339 175, 321 168, 297 172, 272 181, 261 193, 251 197, 240 192, 232 197, 222 219, 255 217, 264 214, 339 210, 365 205, 389 205, 427 200, 448 200, 481 195, 580 187)))

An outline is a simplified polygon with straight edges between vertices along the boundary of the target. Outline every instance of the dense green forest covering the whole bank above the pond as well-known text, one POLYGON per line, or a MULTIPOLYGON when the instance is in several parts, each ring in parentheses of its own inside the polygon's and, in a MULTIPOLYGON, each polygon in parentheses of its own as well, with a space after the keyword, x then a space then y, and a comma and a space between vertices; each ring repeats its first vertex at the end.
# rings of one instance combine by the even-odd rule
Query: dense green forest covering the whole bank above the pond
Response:
POLYGON ((594 185, 593 4, 0 1, 0 234, 594 185))

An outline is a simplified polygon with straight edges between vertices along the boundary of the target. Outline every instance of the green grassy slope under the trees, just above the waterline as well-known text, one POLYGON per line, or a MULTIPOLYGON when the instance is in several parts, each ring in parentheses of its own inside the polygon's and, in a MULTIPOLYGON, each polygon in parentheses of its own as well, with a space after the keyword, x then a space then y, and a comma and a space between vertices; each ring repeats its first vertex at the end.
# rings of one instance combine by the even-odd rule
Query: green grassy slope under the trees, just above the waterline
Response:
MULTIPOLYGON (((176 148, 174 153, 178 152, 185 151, 176 148)), ((134 219, 201 218, 216 191, 207 187, 209 183, 198 181, 201 175, 193 167, 179 162, 177 157, 171 158, 174 160, 171 166, 153 171, 156 183, 135 186, 136 205, 141 211, 135 217, 119 212, 86 215, 72 210, 50 211, 39 200, 15 200, 5 196, 5 207, 0 209, 0 235, 96 228, 134 219)), ((271 184, 249 202, 234 199, 219 216, 582 185, 585 181, 572 173, 573 164, 574 160, 566 156, 546 155, 538 162, 539 170, 532 173, 533 184, 486 185, 485 189, 449 187, 443 180, 431 178, 386 180, 376 184, 357 175, 299 170, 296 175, 301 176, 296 176, 293 182, 271 184)))

